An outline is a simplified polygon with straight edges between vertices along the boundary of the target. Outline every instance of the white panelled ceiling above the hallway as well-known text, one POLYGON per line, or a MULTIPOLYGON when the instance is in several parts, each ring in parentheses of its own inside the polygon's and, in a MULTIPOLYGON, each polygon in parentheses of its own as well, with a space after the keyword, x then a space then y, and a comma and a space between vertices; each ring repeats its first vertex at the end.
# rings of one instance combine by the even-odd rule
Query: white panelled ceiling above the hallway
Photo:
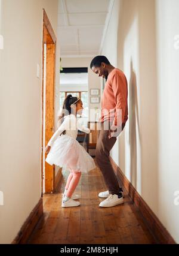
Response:
POLYGON ((61 56, 100 53, 113 0, 58 0, 58 41, 61 56))

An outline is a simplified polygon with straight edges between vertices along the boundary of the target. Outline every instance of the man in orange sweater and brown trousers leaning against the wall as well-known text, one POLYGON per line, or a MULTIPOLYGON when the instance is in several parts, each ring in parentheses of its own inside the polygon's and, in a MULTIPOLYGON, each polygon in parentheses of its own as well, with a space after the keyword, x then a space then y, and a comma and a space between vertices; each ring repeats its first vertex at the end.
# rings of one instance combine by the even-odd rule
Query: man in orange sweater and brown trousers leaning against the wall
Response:
POLYGON ((105 56, 96 56, 92 59, 90 68, 99 77, 106 79, 101 101, 101 130, 95 157, 108 188, 108 191, 98 194, 99 197, 106 198, 99 206, 112 207, 124 203, 122 188, 119 186, 109 155, 116 137, 128 120, 127 80, 124 73, 113 67, 105 56))

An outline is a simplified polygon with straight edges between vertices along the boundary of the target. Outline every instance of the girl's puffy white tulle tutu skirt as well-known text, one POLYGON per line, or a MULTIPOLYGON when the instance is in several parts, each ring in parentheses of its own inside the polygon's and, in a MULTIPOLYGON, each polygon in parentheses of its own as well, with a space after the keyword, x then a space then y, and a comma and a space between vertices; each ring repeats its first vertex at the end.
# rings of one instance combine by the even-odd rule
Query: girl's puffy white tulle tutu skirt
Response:
POLYGON ((69 135, 60 135, 54 141, 45 159, 50 165, 58 165, 69 171, 88 171, 96 168, 94 159, 87 153, 79 142, 69 135))

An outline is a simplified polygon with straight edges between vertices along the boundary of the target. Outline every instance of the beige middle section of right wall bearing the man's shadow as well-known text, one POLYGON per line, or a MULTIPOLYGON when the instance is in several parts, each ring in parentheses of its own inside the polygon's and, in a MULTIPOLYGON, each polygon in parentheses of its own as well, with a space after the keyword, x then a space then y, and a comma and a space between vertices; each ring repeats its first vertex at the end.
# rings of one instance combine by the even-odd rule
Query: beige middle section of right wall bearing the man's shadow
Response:
POLYGON ((120 146, 120 150, 125 149, 124 155, 120 152, 120 161, 124 162, 122 166, 125 166, 122 171, 157 212, 158 90, 155 16, 155 0, 121 1, 117 58, 118 67, 128 75, 129 92, 129 129, 126 129, 125 139, 120 146), (136 24, 135 20, 138 21, 136 24), (136 81, 140 85, 137 85, 136 81), (138 90, 140 98, 137 98, 138 90))

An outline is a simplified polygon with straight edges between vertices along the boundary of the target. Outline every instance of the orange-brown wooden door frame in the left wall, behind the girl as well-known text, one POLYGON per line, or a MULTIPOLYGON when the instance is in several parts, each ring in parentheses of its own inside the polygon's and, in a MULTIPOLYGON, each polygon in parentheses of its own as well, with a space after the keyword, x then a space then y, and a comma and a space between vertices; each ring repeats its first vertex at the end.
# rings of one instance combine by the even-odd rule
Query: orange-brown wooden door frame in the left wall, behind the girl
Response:
POLYGON ((42 79, 42 195, 55 190, 55 167, 45 162, 45 146, 54 133, 56 37, 44 10, 42 79))

